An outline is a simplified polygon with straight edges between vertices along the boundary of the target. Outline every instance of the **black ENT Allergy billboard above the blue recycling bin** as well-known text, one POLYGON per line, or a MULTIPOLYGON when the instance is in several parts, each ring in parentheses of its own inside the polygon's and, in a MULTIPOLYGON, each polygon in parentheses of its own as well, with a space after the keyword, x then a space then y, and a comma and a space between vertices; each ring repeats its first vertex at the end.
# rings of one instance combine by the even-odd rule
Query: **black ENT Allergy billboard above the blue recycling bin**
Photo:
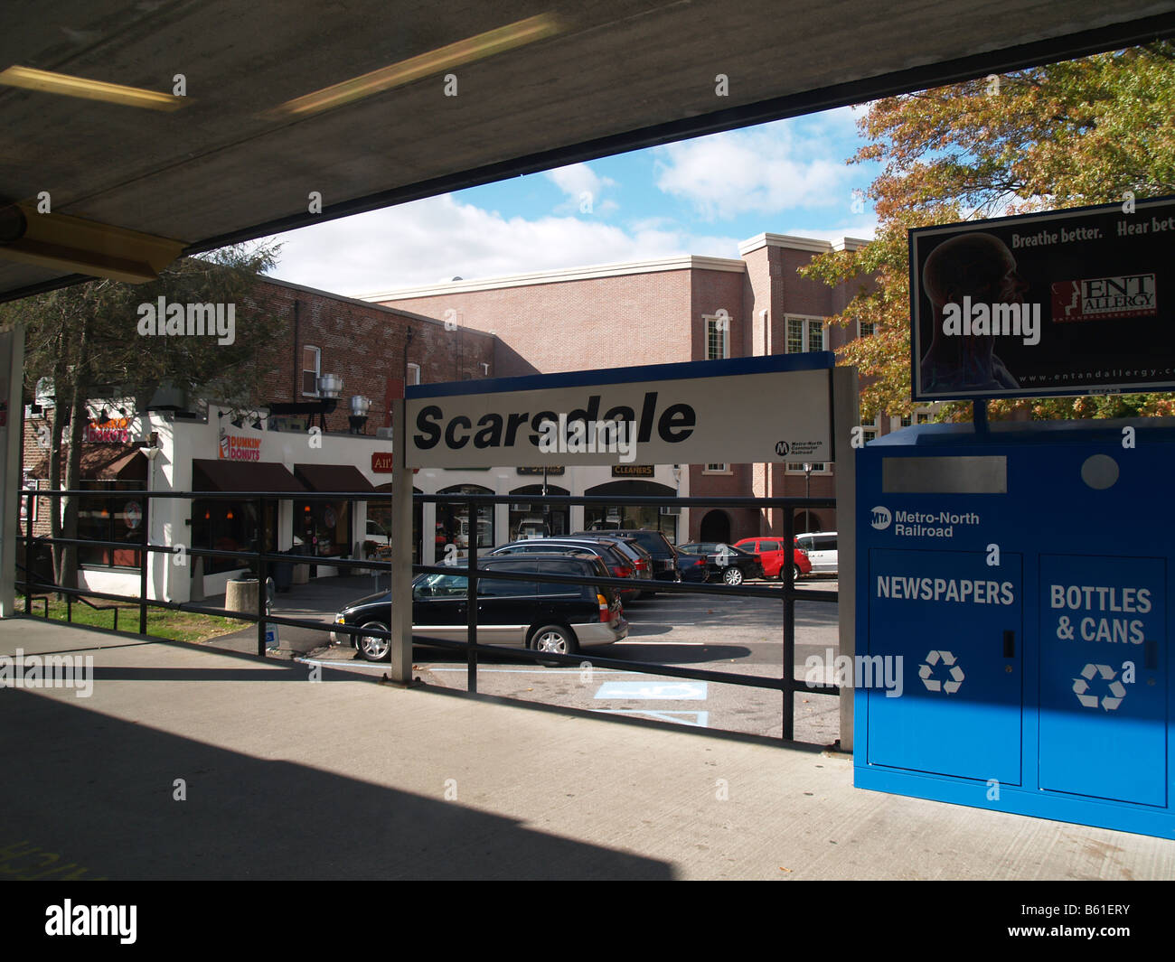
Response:
POLYGON ((1175 197, 909 231, 914 401, 1175 389, 1175 197))

